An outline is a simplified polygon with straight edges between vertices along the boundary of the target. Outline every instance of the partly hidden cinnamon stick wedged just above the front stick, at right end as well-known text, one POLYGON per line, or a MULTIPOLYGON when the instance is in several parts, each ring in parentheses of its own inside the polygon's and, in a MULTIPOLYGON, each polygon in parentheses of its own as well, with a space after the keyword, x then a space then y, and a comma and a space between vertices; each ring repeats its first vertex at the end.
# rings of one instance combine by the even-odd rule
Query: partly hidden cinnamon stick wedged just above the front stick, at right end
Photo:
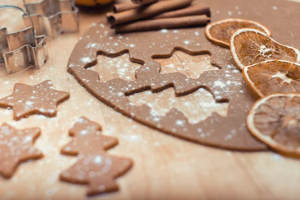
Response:
POLYGON ((191 16, 191 15, 201 15, 201 14, 205 14, 206 16, 210 17, 209 7, 203 6, 201 4, 195 4, 195 5, 191 5, 191 6, 182 8, 182 9, 163 12, 152 18, 153 19, 170 18, 170 17, 191 16))

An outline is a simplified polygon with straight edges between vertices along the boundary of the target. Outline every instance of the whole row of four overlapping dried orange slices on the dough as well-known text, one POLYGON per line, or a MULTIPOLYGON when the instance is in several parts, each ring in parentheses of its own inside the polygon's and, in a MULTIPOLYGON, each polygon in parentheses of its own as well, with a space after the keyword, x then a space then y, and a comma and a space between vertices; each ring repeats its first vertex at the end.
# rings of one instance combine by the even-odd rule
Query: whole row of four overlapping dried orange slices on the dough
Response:
POLYGON ((300 156, 300 51, 276 42, 251 20, 215 21, 205 35, 230 48, 245 81, 261 97, 247 115, 249 131, 279 153, 300 156))

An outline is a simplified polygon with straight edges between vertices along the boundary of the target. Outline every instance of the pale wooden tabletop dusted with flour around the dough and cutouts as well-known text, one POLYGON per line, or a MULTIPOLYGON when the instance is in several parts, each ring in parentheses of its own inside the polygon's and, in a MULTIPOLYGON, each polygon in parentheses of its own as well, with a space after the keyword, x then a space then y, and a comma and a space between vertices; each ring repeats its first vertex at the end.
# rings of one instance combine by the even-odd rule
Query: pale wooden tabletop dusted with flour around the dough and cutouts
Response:
MULTIPOLYGON (((8 3, 22 6, 22 0, 0 0, 0 4, 8 3)), ((17 128, 38 126, 42 129, 35 146, 44 153, 42 159, 20 164, 11 179, 0 177, 1 199, 86 198, 85 185, 58 180, 60 171, 76 160, 75 157, 59 154, 59 150, 70 140, 68 129, 80 116, 99 122, 103 134, 119 139, 119 144, 108 151, 110 154, 134 160, 130 171, 117 178, 120 186, 118 192, 91 199, 300 198, 300 161, 297 159, 283 157, 272 151, 233 152, 184 141, 132 121, 86 92, 66 72, 66 64, 80 35, 101 14, 96 11, 80 12, 78 33, 65 33, 56 39, 47 39, 50 59, 42 69, 30 68, 7 76, 4 67, 0 66, 0 98, 11 94, 16 82, 33 85, 47 79, 52 80, 55 89, 69 91, 71 96, 58 106, 58 114, 52 118, 34 115, 15 121, 12 119, 12 110, 0 108, 0 124, 8 122, 17 128)), ((18 27, 21 19, 11 22, 9 18, 11 15, 8 17, 6 12, 0 20, 18 27)), ((128 61, 125 55, 114 59, 128 61)), ((178 63, 175 58, 159 61, 178 63)), ((130 71, 128 73, 132 75, 130 71)), ((172 92, 172 89, 168 89, 165 95, 172 95, 172 92)), ((134 96, 132 100, 139 98, 134 96)), ((168 109, 167 103, 160 104, 168 109)), ((190 114, 189 117, 196 116, 190 114)))

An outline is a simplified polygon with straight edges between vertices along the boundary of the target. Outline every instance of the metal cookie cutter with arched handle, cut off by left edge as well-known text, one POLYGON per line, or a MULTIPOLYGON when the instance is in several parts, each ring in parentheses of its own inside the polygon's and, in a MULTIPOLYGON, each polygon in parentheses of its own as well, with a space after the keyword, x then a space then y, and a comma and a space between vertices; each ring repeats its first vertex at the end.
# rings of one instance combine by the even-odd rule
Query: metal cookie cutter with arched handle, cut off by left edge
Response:
MULTIPOLYGON (((23 9, 14 5, 0 5, 1 9, 16 9, 27 14, 23 9)), ((28 15, 29 16, 29 15, 28 15)), ((41 68, 48 59, 46 37, 36 36, 33 22, 30 27, 7 32, 0 29, 0 64, 4 64, 8 75, 20 72, 30 66, 41 68)))

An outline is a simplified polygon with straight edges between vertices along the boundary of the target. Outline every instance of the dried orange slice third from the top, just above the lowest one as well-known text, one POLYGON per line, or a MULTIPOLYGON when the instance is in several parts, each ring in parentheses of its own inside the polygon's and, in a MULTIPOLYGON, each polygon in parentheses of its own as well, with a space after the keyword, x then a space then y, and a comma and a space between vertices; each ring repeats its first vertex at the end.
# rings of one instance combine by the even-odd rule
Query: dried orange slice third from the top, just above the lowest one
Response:
POLYGON ((300 64, 285 60, 267 60, 242 70, 242 74, 259 96, 272 93, 300 93, 300 64))

